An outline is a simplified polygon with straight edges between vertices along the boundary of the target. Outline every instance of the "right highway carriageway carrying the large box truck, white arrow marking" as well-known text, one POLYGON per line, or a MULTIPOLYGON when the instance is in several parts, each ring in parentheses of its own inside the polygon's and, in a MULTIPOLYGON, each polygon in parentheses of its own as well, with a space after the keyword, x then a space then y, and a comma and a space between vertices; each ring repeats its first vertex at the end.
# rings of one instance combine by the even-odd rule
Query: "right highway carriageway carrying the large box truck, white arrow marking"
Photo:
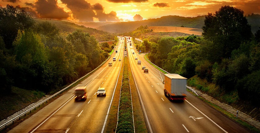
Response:
POLYGON ((150 123, 150 132, 249 132, 190 93, 184 102, 169 101, 163 91, 164 74, 146 62, 144 54, 138 54, 133 45, 128 43, 127 47, 133 76, 147 114, 146 121, 150 123), (141 65, 137 64, 135 58, 141 60, 141 65), (142 66, 148 68, 149 73, 144 73, 142 66))

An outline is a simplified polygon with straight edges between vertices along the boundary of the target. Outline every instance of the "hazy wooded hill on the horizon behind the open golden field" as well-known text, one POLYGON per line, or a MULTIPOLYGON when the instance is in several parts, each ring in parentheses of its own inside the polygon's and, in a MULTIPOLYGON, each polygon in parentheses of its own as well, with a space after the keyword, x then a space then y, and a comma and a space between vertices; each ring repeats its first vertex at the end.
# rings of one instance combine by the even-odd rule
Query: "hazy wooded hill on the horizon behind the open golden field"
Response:
POLYGON ((113 32, 113 33, 125 33, 135 30, 141 25, 145 26, 176 26, 176 27, 188 27, 201 29, 204 24, 204 16, 197 17, 180 17, 180 16, 163 16, 157 19, 148 19, 142 21, 131 22, 117 22, 113 24, 107 24, 98 27, 97 29, 113 32))

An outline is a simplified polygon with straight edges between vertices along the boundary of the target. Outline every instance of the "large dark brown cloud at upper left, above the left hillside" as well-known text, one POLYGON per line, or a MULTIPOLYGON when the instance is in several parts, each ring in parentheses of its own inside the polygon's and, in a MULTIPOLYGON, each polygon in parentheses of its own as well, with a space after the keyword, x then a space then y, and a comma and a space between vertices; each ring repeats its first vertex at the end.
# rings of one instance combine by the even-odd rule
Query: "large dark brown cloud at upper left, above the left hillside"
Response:
POLYGON ((33 7, 36 8, 40 18, 67 19, 69 14, 57 5, 56 0, 38 0, 33 7))

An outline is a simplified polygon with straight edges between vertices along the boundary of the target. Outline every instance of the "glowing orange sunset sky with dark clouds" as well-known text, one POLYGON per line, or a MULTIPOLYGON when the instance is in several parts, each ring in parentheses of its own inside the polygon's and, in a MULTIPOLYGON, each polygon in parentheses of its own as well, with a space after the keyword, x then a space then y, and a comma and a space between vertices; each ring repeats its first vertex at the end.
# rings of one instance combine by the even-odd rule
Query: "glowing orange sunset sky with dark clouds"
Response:
POLYGON ((260 0, 0 0, 35 18, 75 22, 124 22, 167 15, 196 17, 229 5, 248 14, 260 14, 260 0))

